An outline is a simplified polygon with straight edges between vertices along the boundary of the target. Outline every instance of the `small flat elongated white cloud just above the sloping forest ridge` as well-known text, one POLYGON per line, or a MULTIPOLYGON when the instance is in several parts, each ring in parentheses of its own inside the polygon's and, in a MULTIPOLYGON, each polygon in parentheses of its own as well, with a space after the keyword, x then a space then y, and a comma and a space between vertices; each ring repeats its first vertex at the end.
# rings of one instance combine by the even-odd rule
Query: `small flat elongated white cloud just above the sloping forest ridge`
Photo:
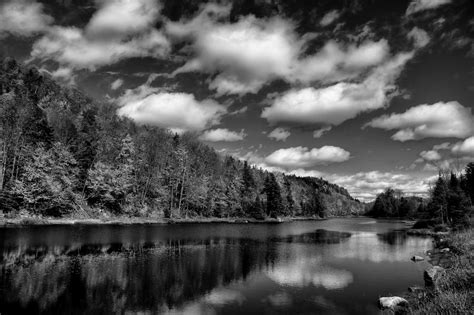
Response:
POLYGON ((305 168, 344 162, 349 157, 350 153, 339 147, 323 146, 308 149, 300 146, 276 150, 265 158, 265 162, 271 166, 284 168, 305 168))

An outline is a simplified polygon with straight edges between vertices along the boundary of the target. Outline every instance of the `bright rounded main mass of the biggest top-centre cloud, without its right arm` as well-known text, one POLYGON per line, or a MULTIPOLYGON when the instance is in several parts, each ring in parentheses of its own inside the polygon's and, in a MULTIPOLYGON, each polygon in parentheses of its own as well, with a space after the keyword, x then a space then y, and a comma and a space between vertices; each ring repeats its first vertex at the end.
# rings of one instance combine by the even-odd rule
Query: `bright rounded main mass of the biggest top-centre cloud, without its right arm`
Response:
POLYGON ((233 24, 203 26, 192 32, 197 56, 174 74, 218 73, 210 88, 219 94, 256 93, 267 81, 291 71, 292 61, 302 46, 293 28, 290 22, 278 17, 253 16, 233 24))

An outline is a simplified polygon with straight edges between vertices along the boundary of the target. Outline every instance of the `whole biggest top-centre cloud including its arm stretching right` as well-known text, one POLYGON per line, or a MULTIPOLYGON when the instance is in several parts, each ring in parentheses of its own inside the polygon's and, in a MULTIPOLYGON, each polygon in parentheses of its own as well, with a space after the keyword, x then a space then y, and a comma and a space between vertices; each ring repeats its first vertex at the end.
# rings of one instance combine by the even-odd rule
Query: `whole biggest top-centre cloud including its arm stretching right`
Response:
POLYGON ((194 53, 173 75, 215 74, 211 89, 219 95, 242 95, 257 93, 275 79, 310 83, 354 78, 388 56, 388 43, 382 39, 360 45, 329 41, 316 54, 301 57, 310 36, 299 36, 291 21, 246 16, 223 23, 229 12, 228 6, 207 4, 189 21, 167 23, 167 33, 175 41, 190 41, 194 53))

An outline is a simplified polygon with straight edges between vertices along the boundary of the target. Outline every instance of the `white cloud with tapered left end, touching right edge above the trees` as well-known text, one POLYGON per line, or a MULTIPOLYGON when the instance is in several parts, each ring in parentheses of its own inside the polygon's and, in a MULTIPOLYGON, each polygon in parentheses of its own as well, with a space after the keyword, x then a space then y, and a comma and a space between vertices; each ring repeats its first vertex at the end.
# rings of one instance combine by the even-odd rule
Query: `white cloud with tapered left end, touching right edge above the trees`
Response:
POLYGON ((385 130, 399 129, 393 140, 424 138, 466 138, 474 134, 474 116, 470 108, 456 101, 423 104, 401 114, 375 118, 366 126, 385 130))

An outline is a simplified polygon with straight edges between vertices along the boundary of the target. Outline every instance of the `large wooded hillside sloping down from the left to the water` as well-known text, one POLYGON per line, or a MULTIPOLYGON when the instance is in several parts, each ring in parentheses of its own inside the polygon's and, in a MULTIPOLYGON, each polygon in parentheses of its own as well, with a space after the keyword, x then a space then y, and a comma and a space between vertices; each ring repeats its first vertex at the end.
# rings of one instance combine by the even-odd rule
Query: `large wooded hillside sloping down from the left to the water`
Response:
POLYGON ((192 133, 140 126, 4 58, 0 211, 7 217, 326 217, 364 205, 322 178, 271 173, 192 133))

